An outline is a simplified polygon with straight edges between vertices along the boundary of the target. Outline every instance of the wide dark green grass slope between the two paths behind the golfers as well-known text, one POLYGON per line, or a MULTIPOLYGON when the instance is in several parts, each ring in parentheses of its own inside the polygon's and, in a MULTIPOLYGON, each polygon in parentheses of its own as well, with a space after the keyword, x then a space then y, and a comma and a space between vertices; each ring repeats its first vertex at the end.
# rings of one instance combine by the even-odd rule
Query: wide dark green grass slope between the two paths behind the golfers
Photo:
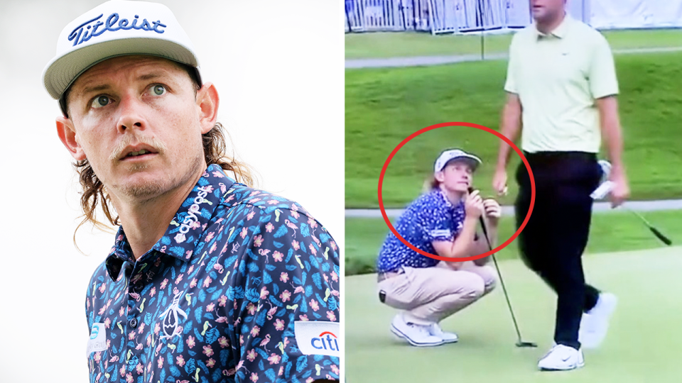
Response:
MULTIPOLYGON (((616 57, 624 160, 632 199, 682 197, 682 52, 616 57)), ((378 207, 381 167, 412 133, 435 123, 465 121, 498 129, 505 61, 397 69, 349 70, 345 76, 345 204, 378 207)), ((384 206, 404 207, 433 172, 440 150, 461 147, 484 161, 475 184, 489 194, 501 141, 475 128, 429 131, 396 153, 386 171, 384 206)), ((512 153, 512 176, 520 158, 512 153)))

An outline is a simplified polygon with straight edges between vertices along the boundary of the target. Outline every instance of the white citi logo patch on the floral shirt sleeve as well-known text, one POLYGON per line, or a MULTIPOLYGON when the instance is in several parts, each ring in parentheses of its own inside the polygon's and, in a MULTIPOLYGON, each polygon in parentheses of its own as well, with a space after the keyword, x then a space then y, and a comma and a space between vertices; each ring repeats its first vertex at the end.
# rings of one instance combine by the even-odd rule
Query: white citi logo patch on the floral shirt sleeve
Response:
POLYGON ((342 340, 337 322, 296 321, 293 323, 296 344, 303 355, 341 356, 342 340))

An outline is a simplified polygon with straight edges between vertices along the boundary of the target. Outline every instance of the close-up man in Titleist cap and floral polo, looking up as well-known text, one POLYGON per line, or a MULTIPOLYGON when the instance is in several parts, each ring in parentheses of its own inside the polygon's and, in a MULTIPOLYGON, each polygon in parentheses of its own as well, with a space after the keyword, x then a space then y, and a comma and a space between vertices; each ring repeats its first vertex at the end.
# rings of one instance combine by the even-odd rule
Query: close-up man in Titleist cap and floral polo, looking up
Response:
POLYGON ((166 6, 109 1, 63 29, 43 71, 83 223, 102 225, 101 204, 120 225, 87 289, 90 381, 338 380, 337 245, 249 187, 198 68, 166 6))

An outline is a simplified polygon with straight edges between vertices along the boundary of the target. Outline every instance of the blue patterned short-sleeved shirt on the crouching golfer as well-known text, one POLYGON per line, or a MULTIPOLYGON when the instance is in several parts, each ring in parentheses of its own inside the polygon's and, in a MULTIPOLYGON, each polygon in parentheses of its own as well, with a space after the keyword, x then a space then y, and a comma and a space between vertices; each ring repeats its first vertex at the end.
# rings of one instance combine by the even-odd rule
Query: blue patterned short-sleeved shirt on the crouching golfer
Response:
MULTIPOLYGON (((453 205, 440 189, 434 189, 412 201, 394 227, 415 248, 436 255, 431 243, 454 240, 464 226, 464 217, 464 201, 453 205)), ((408 248, 389 231, 379 250, 377 272, 396 272, 401 267, 433 267, 438 262, 408 248)))

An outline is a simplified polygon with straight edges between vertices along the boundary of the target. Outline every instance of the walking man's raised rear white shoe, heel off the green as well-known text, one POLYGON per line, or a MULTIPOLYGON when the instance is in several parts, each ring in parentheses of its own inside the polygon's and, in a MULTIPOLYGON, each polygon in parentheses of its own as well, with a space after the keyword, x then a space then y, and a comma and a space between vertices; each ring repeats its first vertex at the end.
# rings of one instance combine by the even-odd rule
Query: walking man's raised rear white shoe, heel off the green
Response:
POLYGON ((602 344, 609 329, 609 319, 616 309, 618 299, 614 294, 599 295, 597 304, 587 313, 583 313, 580 321, 578 341, 583 348, 597 348, 602 344))

